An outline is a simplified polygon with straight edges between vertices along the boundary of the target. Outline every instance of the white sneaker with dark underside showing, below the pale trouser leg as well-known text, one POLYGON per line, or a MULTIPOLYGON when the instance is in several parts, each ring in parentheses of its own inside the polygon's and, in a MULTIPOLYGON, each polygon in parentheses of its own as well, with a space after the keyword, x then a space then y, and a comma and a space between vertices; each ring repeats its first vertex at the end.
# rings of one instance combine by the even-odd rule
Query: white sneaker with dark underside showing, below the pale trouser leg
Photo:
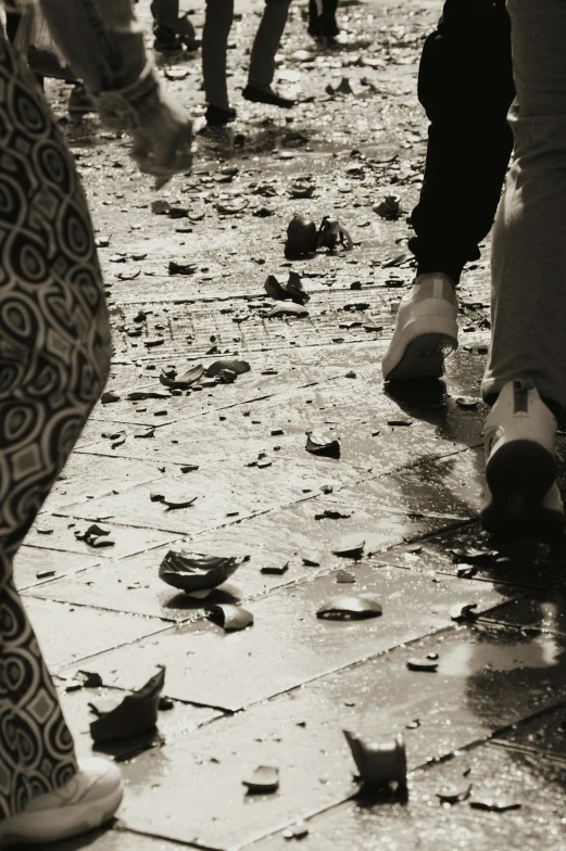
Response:
POLYGON ((485 428, 488 532, 519 537, 561 533, 564 506, 556 484, 556 418, 532 381, 508 381, 485 428))

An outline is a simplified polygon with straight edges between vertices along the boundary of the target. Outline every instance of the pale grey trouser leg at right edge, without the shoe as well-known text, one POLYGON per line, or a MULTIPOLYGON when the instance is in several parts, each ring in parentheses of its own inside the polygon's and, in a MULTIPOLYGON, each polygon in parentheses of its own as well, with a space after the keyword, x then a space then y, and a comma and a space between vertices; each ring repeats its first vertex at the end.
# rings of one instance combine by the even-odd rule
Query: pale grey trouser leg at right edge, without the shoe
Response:
POLYGON ((566 404, 566 2, 507 0, 515 152, 492 249, 492 402, 516 378, 566 404))

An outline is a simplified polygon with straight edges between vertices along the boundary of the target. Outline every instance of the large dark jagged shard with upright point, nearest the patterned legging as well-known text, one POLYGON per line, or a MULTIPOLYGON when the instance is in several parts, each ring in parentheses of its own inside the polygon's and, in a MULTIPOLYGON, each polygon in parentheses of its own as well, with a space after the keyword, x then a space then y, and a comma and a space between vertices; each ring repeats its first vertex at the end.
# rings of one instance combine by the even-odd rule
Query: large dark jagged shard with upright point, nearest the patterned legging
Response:
POLYGON ((160 696, 165 683, 165 668, 152 676, 138 691, 110 708, 108 700, 104 703, 92 700, 89 706, 99 714, 90 724, 90 735, 95 742, 113 741, 129 736, 137 736, 153 729, 158 722, 160 696))

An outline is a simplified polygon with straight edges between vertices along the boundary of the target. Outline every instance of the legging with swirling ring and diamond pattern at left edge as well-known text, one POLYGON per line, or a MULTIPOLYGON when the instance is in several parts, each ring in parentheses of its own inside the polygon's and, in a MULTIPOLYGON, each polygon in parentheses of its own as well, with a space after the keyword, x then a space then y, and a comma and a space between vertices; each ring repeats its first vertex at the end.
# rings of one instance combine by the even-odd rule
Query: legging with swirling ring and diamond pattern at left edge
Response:
POLYGON ((77 770, 12 563, 102 391, 109 358, 73 157, 0 36, 0 818, 77 770))

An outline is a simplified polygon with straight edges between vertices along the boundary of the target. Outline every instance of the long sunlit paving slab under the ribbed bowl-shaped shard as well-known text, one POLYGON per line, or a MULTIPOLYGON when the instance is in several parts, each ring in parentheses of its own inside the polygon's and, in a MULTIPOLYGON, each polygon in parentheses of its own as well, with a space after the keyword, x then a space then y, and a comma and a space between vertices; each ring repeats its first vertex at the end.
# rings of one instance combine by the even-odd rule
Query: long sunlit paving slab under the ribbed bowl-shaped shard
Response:
MULTIPOLYGON (((319 572, 328 573, 343 567, 343 559, 331 552, 332 544, 343 535, 362 533, 365 551, 379 550, 395 541, 417 538, 445 523, 450 518, 415 518, 386 515, 376 518, 365 509, 366 494, 356 495, 347 490, 348 498, 337 499, 324 495, 287 508, 273 510, 241 522, 207 530, 191 538, 178 538, 169 547, 156 547, 105 566, 83 570, 76 576, 50 582, 34 589, 35 596, 76 602, 115 611, 149 614, 174 621, 192 620, 203 606, 263 595, 277 587, 312 579, 319 572), (325 510, 340 510, 350 518, 316 520, 325 510), (159 566, 171 549, 188 549, 201 554, 230 552, 250 556, 238 573, 231 576, 204 602, 177 592, 159 579, 159 566), (316 564, 305 564, 311 559, 316 564), (262 567, 287 566, 281 576, 261 572, 262 567)), ((341 497, 341 492, 338 492, 341 497)), ((236 521, 237 518, 234 518, 236 521)))

